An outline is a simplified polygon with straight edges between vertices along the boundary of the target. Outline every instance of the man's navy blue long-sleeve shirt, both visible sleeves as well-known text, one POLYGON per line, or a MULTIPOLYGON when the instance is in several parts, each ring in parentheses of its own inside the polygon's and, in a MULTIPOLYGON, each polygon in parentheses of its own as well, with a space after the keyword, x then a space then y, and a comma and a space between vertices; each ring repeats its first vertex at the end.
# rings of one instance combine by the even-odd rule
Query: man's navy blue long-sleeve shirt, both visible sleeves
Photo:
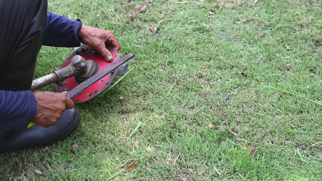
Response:
MULTIPOLYGON (((47 13, 47 24, 43 45, 56 47, 76 47, 81 43, 78 32, 82 28, 79 20, 47 13)), ((37 113, 37 102, 31 91, 0 90, 0 130, 27 128, 37 113)))

